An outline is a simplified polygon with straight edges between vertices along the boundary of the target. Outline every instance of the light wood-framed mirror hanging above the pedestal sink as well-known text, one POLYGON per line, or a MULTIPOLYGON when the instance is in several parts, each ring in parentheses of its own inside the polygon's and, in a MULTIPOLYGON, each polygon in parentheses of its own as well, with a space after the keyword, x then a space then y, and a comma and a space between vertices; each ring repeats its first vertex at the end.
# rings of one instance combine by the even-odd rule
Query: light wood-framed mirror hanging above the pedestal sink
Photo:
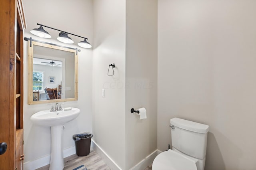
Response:
POLYGON ((77 49, 30 40, 28 104, 78 99, 77 49))

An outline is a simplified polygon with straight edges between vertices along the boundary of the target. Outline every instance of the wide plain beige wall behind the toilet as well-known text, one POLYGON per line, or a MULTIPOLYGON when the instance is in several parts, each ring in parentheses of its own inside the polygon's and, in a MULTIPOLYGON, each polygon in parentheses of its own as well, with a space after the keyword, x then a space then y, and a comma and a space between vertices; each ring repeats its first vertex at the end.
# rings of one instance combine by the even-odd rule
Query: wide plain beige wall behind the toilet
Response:
POLYGON ((255 169, 255 7, 158 0, 158 149, 180 117, 210 125, 205 170, 255 169))

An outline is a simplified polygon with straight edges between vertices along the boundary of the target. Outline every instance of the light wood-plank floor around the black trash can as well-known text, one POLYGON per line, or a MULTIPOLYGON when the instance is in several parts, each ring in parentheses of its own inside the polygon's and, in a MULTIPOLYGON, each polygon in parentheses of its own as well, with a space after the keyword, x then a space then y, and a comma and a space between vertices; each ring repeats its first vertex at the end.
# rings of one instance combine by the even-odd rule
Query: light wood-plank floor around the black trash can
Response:
MULTIPOLYGON (((65 167, 63 170, 72 170, 80 165, 86 166, 88 170, 111 170, 102 158, 94 151, 90 150, 87 156, 77 156, 76 154, 64 158, 65 167)), ((37 170, 49 170, 50 165, 43 166, 37 170)), ((152 170, 152 164, 144 170, 152 170)))

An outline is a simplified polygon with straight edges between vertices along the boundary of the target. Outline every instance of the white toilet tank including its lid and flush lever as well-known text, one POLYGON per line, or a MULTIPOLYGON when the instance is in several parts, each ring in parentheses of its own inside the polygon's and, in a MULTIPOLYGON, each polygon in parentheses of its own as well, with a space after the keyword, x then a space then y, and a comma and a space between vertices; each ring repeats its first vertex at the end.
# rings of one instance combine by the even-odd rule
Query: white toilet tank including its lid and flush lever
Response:
POLYGON ((170 124, 172 147, 189 156, 204 159, 209 126, 179 118, 171 119, 170 124))

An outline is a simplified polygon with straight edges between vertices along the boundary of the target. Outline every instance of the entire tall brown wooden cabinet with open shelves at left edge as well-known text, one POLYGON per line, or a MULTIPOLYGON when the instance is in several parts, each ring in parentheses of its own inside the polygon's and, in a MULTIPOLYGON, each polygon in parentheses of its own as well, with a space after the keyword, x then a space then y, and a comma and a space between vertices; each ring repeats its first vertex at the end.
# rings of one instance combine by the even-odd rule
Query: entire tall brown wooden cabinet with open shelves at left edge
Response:
POLYGON ((23 169, 23 30, 21 0, 0 1, 0 170, 23 169), (18 166, 18 167, 17 167, 18 166))

